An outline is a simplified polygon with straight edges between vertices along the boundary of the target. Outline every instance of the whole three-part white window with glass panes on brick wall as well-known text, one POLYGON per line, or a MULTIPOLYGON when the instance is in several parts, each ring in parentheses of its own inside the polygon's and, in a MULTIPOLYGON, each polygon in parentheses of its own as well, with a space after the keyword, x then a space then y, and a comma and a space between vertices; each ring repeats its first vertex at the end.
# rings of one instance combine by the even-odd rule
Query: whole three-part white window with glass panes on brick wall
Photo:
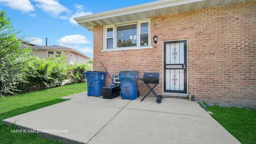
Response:
POLYGON ((105 26, 103 49, 150 46, 150 20, 105 26))

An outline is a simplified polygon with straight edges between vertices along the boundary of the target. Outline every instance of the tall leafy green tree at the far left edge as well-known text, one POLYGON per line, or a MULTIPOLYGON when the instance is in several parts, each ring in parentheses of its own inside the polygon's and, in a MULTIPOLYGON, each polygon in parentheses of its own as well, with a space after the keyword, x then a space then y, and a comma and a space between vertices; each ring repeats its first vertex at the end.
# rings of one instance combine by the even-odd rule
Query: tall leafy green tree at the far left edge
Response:
POLYGON ((25 81, 30 48, 21 48, 21 42, 10 19, 0 11, 0 96, 15 94, 19 83, 25 81))

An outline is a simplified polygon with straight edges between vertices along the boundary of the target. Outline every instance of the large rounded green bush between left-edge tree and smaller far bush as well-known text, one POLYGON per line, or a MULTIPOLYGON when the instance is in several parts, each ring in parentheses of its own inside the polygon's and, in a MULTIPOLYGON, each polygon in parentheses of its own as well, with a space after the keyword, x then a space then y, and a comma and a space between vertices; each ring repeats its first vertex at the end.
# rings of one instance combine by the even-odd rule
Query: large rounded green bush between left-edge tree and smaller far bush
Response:
POLYGON ((35 91, 61 86, 66 77, 65 57, 49 60, 34 57, 28 65, 26 82, 20 86, 22 92, 35 91))

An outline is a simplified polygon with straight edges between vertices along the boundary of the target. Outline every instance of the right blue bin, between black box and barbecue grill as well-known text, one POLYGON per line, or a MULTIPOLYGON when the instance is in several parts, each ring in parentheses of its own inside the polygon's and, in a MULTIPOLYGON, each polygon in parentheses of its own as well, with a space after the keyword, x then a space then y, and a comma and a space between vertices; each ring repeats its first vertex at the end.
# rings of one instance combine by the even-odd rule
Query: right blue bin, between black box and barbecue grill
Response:
POLYGON ((118 76, 121 81, 121 98, 136 99, 138 97, 139 71, 121 71, 118 76))

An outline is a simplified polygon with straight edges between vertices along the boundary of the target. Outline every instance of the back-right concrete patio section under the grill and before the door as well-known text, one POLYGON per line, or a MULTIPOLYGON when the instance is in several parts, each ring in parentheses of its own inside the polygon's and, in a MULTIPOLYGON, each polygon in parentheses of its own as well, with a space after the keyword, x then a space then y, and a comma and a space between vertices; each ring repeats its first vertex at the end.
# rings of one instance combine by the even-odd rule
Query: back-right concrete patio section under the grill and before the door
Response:
POLYGON ((157 104, 155 97, 146 97, 143 101, 140 101, 141 99, 142 97, 132 100, 125 108, 211 117, 195 101, 165 98, 162 100, 161 104, 157 104))

